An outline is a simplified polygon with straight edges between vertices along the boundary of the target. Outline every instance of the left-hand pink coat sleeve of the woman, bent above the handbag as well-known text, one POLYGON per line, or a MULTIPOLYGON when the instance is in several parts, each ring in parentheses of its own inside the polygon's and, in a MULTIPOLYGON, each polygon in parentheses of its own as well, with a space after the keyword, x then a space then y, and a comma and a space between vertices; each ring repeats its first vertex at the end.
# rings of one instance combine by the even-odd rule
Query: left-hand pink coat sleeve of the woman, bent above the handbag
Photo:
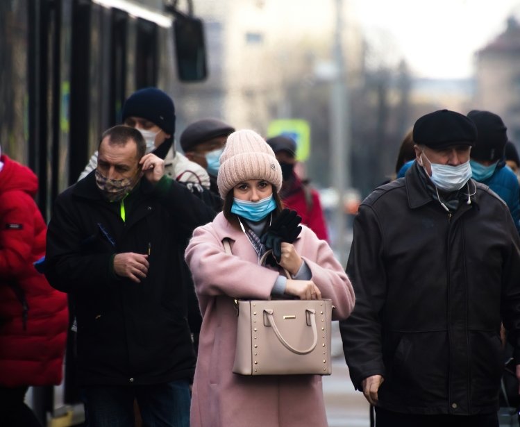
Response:
POLYGON ((194 231, 185 257, 199 295, 269 299, 279 276, 278 271, 226 253, 212 224, 194 231))

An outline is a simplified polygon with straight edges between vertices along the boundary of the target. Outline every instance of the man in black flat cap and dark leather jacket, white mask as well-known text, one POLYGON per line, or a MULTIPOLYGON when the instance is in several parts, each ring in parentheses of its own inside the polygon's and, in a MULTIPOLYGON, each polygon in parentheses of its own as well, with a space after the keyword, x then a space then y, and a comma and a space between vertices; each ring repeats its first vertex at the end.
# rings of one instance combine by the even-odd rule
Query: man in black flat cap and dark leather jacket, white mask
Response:
POLYGON ((355 217, 340 322, 353 383, 376 425, 498 426, 501 322, 520 364, 520 239, 505 203, 471 179, 468 117, 413 128, 416 161, 355 217))

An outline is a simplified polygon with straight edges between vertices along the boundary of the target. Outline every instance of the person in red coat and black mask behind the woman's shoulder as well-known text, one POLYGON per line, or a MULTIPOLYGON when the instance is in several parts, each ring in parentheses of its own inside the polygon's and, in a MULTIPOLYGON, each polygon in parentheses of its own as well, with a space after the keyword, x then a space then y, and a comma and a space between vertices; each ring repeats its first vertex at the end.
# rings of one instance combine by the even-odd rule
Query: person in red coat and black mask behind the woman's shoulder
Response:
POLYGON ((296 165, 296 142, 285 135, 267 140, 282 167, 283 185, 280 196, 283 206, 296 210, 301 223, 308 226, 319 239, 328 241, 324 212, 321 209, 319 194, 308 183, 302 181, 294 172, 296 165))

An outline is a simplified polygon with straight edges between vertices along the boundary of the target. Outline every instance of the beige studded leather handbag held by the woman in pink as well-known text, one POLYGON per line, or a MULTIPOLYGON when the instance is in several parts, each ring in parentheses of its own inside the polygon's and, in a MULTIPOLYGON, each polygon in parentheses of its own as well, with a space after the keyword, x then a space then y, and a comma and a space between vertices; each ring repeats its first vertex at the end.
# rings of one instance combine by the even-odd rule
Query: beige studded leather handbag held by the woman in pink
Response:
MULTIPOLYGON (((226 252, 229 242, 223 241, 226 252)), ((265 260, 265 256, 262 257, 265 260)), ((285 274, 290 278, 290 274, 285 274)), ((330 299, 238 300, 233 372, 330 375, 330 299)))

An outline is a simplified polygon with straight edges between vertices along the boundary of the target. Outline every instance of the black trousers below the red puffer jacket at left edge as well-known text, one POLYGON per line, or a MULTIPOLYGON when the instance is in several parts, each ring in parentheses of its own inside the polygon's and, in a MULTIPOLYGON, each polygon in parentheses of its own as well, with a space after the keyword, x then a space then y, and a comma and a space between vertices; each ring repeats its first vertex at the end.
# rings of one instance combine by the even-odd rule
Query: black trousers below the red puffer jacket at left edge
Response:
POLYGON ((0 426, 42 427, 25 403, 28 387, 0 387, 0 426))

